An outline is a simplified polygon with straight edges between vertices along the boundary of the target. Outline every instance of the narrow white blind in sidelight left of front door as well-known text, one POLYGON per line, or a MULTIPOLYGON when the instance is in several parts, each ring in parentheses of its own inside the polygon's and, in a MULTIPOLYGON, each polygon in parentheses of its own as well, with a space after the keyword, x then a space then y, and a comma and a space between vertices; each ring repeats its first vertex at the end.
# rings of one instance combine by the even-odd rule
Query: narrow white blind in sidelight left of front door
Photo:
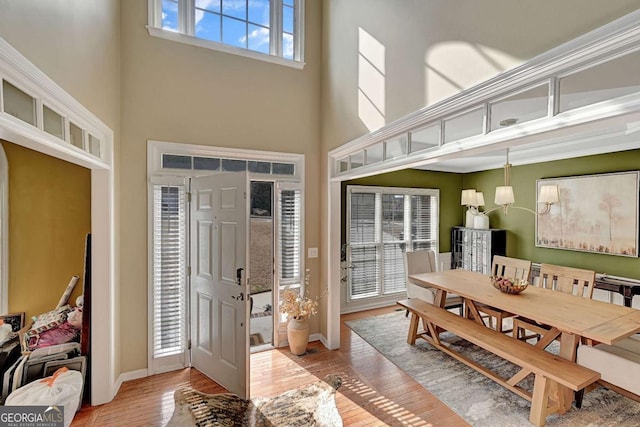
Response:
POLYGON ((153 186, 153 357, 185 350, 185 189, 153 186))

